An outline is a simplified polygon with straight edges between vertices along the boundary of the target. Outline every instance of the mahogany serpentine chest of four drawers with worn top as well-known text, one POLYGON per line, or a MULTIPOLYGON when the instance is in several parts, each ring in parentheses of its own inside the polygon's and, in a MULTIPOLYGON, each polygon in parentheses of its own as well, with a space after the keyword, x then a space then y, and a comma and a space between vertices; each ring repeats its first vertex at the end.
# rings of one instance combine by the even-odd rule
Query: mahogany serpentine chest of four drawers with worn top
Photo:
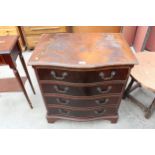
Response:
POLYGON ((117 122, 130 69, 136 63, 119 33, 45 34, 29 60, 49 123, 57 119, 117 122))

